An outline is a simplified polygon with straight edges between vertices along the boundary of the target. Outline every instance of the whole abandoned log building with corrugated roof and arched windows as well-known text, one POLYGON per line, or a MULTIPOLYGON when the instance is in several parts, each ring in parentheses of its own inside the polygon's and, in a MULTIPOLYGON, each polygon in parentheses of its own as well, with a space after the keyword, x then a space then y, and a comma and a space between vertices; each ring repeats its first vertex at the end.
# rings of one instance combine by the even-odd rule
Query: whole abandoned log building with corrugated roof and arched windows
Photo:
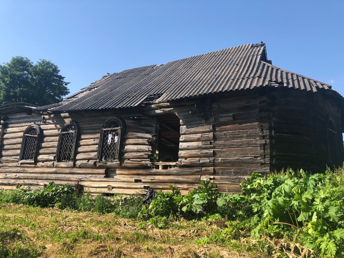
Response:
POLYGON ((343 97, 271 64, 265 44, 109 74, 61 103, 0 107, 0 187, 240 192, 252 172, 343 162, 343 97))

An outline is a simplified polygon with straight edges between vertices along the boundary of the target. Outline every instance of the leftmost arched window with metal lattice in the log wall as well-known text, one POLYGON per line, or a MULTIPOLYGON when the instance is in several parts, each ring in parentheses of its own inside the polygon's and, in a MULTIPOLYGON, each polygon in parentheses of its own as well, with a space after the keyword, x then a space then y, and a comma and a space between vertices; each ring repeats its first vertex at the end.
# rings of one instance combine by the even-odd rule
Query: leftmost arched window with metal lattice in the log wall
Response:
POLYGON ((19 155, 21 162, 34 162, 36 160, 38 144, 42 138, 41 131, 41 127, 37 125, 29 126, 25 129, 19 155))

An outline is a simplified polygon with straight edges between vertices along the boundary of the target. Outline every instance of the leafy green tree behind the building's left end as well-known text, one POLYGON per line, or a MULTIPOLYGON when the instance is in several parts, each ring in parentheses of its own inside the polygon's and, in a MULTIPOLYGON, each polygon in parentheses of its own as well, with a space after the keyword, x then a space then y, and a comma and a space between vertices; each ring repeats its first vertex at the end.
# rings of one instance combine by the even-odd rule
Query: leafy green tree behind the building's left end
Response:
POLYGON ((40 59, 33 64, 22 56, 0 65, 0 105, 26 102, 37 106, 58 103, 69 94, 69 83, 51 61, 40 59))

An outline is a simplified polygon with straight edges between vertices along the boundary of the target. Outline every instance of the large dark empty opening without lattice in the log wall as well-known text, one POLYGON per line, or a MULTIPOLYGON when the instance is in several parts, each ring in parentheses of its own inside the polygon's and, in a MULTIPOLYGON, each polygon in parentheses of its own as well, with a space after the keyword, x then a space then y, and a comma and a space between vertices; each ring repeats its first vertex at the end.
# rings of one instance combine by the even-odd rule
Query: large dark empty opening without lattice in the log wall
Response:
POLYGON ((165 114, 157 116, 157 124, 156 153, 159 154, 159 169, 169 169, 178 161, 180 119, 175 114, 165 114))

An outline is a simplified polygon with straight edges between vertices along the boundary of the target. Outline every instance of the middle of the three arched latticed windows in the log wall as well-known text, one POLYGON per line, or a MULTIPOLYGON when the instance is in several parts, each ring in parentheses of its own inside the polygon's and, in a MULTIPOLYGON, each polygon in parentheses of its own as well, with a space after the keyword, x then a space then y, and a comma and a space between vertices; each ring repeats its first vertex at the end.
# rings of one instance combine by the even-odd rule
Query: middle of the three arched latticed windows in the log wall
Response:
POLYGON ((65 123, 58 137, 56 161, 71 161, 74 159, 77 135, 78 124, 74 121, 65 123))

